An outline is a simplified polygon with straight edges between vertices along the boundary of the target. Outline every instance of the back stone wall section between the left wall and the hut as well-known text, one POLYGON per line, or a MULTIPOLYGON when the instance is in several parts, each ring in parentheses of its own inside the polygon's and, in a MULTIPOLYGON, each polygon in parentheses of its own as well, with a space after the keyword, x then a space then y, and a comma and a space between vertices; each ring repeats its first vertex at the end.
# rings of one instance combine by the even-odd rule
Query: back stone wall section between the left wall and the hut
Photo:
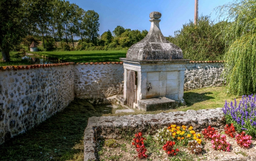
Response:
POLYGON ((123 94, 122 63, 81 63, 74 66, 75 96, 93 104, 123 94))

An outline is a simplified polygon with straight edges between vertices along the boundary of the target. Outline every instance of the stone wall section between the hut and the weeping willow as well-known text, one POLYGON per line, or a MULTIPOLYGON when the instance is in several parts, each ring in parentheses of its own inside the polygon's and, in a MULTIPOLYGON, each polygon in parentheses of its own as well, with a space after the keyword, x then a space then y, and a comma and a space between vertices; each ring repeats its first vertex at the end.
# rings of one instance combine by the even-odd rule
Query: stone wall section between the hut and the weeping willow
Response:
POLYGON ((193 61, 188 63, 185 71, 184 90, 222 86, 223 63, 223 61, 193 61))

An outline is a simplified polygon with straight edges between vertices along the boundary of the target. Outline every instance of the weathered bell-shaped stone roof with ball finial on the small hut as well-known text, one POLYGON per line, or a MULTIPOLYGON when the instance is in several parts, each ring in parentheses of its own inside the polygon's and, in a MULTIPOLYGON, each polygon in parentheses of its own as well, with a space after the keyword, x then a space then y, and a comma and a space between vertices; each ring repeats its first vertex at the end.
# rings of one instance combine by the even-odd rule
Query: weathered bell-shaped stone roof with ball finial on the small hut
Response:
POLYGON ((126 54, 126 58, 134 60, 175 60, 183 59, 180 47, 170 43, 159 28, 160 12, 151 12, 149 21, 150 30, 147 36, 140 42, 132 45, 126 54))

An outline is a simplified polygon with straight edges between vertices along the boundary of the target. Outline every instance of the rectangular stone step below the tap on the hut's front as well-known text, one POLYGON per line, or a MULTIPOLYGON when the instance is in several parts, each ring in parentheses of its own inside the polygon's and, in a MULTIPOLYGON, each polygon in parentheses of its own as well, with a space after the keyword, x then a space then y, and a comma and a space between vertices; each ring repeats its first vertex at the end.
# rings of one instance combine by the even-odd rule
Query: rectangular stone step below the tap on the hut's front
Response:
POLYGON ((170 110, 176 108, 176 101, 166 97, 138 100, 138 109, 142 111, 170 110))

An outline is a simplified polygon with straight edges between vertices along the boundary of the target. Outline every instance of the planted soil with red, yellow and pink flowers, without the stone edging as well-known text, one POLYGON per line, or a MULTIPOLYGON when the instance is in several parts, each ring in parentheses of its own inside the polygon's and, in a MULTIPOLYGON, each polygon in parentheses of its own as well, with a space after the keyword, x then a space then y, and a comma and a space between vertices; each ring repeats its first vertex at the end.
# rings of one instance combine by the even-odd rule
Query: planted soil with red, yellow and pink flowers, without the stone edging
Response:
MULTIPOLYGON (((154 136, 136 133, 135 138, 118 140, 113 148, 108 140, 102 142, 100 160, 234 160, 245 158, 256 160, 255 140, 244 132, 235 138, 225 136, 226 130, 217 131, 213 127, 196 133, 192 126, 170 125, 157 130, 154 136), (212 134, 212 132, 214 134, 212 134), (209 137, 211 136, 211 137, 209 137), (183 139, 181 139, 183 138, 183 139), (239 141, 243 140, 243 141, 239 141), (248 141, 249 140, 249 141, 248 141), (105 143, 104 143, 105 141, 105 143), (107 142, 107 143, 106 143, 107 142), (244 146, 244 142, 247 146, 244 146), (254 144, 251 144, 254 142, 254 144)), ((113 140, 113 139, 109 139, 113 140)), ((114 143, 115 144, 115 143, 114 143)))

